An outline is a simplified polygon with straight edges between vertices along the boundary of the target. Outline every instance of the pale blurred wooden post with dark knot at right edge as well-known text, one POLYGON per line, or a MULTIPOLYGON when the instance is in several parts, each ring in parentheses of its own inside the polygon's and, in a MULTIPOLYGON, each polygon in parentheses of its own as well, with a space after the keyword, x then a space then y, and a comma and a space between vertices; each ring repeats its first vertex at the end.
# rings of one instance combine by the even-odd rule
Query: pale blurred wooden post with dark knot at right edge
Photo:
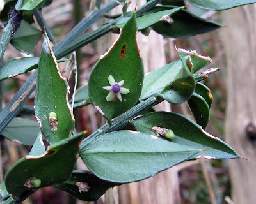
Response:
POLYGON ((256 5, 223 11, 227 55, 226 140, 241 156, 232 159, 230 175, 234 203, 255 203, 256 194, 256 5))

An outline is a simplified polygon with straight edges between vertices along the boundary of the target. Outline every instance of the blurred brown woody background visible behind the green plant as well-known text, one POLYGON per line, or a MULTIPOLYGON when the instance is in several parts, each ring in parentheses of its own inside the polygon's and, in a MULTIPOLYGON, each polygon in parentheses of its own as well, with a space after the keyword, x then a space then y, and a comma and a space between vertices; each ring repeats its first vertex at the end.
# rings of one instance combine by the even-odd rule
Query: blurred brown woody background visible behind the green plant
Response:
MULTIPOLYGON (((104 0, 103 3, 108 1, 110 0, 104 0)), ((3 6, 4 1, 0 2, 0 5, 3 6)), ((129 9, 134 10, 136 4, 140 7, 145 2, 146 0, 133 0, 129 9)), ((210 33, 184 39, 165 38, 154 31, 150 31, 149 36, 138 33, 145 73, 178 60, 179 56, 175 51, 175 46, 186 50, 196 50, 201 55, 211 57, 212 63, 205 69, 216 67, 220 68, 220 71, 203 82, 211 89, 214 98, 211 119, 206 131, 225 140, 248 161, 244 159, 188 161, 150 179, 109 189, 102 198, 94 203, 243 204, 255 201, 256 196, 253 191, 256 187, 256 31, 254 23, 256 7, 254 4, 250 4, 232 10, 207 11, 195 8, 189 3, 188 5, 186 9, 195 15, 214 20, 223 27, 210 33)), ((58 42, 79 20, 86 17, 95 8, 94 6, 95 1, 88 0, 53 1, 50 6, 42 10, 42 14, 58 42)), ((118 6, 111 12, 111 14, 121 13, 122 6, 118 6)), ((96 29, 104 21, 106 19, 100 20, 92 26, 92 29, 96 29)), ((78 87, 88 83, 88 77, 95 62, 111 47, 117 36, 117 34, 109 33, 77 50, 78 87)), ((39 56, 41 45, 42 40, 38 43, 34 56, 39 56)), ((3 61, 7 62, 15 57, 25 55, 9 46, 3 61)), ((65 67, 65 63, 59 65, 61 69, 65 67)), ((68 78, 69 73, 64 75, 68 78)), ((13 98, 28 77, 29 73, 4 80, 3 106, 13 98)), ((72 86, 72 79, 70 82, 72 86)), ((35 93, 31 94, 26 105, 33 106, 34 96, 35 93)), ((182 113, 193 119, 189 106, 185 103, 172 106, 168 103, 161 103, 157 105, 156 109, 182 113)), ((19 116, 29 117, 22 113, 19 116)), ((75 112, 75 116, 77 131, 88 129, 89 134, 106 122, 92 105, 80 108, 75 112)), ((33 117, 32 119, 35 120, 33 117)), ((0 182, 3 182, 4 173, 10 166, 20 157, 26 156, 29 150, 29 147, 22 147, 15 142, 1 138, 0 182)), ((79 160, 77 169, 85 168, 86 166, 79 160)), ((80 204, 88 202, 76 200, 54 187, 46 187, 38 190, 23 203, 80 204)))

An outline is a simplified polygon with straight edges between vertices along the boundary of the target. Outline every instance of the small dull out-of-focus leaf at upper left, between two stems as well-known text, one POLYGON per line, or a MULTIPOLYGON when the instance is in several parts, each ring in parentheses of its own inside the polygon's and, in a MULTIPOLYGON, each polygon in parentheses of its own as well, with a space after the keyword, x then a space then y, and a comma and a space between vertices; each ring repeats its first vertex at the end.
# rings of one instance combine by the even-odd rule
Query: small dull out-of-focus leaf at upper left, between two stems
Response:
POLYGON ((42 36, 42 32, 22 20, 10 43, 17 50, 31 54, 42 36))

